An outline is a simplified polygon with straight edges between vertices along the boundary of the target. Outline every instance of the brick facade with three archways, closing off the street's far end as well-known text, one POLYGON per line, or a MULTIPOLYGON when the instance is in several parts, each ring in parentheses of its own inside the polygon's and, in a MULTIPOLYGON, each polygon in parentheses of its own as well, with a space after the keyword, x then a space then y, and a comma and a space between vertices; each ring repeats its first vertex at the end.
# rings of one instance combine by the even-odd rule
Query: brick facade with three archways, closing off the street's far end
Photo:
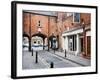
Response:
POLYGON ((23 11, 23 37, 31 46, 41 45, 58 49, 57 15, 54 12, 23 11))

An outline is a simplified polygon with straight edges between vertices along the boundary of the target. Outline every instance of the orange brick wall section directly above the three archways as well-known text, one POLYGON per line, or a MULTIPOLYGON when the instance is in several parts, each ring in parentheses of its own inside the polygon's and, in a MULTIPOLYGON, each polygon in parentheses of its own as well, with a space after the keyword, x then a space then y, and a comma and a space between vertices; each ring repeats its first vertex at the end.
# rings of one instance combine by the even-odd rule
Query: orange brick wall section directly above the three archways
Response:
POLYGON ((29 13, 24 13, 23 20, 24 20, 23 32, 25 32, 28 35, 29 35, 30 24, 31 24, 31 34, 33 35, 38 33, 39 21, 42 34, 50 36, 52 35, 52 33, 54 33, 55 35, 57 35, 58 33, 56 17, 31 14, 31 23, 30 23, 29 13))

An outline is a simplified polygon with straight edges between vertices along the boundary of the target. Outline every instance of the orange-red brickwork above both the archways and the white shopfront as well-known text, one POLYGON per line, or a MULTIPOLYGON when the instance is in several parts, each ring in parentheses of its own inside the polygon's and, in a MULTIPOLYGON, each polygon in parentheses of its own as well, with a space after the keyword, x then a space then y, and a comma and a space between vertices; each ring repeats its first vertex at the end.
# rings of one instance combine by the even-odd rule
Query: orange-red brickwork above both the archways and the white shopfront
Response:
MULTIPOLYGON (((62 47, 62 33, 68 29, 79 27, 80 23, 73 23, 73 15, 66 17, 67 13, 59 12, 57 17, 31 14, 31 35, 38 33, 38 25, 40 21, 41 33, 51 36, 59 36, 59 47, 62 47)), ((29 35, 30 14, 23 13, 23 32, 29 35)), ((90 25, 91 15, 88 13, 81 13, 80 20, 84 19, 86 25, 90 25)), ((81 22, 81 21, 80 21, 81 22)), ((87 27, 87 26, 86 26, 87 27)))

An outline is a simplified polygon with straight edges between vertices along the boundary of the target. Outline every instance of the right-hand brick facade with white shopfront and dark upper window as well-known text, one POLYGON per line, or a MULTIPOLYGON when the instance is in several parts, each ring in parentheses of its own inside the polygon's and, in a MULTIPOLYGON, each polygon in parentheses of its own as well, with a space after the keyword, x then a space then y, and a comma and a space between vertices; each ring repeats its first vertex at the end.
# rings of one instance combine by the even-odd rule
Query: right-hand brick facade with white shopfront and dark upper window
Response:
POLYGON ((91 14, 73 13, 63 22, 63 49, 75 55, 91 56, 91 14), (67 23, 68 22, 68 23, 67 23), (69 25, 68 25, 69 24, 69 25))

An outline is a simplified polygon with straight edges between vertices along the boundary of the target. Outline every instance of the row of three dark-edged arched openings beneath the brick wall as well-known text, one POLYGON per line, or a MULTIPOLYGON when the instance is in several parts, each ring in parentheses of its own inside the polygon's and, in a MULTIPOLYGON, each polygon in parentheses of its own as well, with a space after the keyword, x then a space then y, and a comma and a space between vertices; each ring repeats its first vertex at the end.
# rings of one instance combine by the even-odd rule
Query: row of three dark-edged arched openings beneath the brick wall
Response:
POLYGON ((28 50, 29 47, 33 50, 38 48, 41 50, 58 49, 59 37, 54 35, 47 37, 42 33, 34 34, 32 37, 23 34, 23 48, 28 50))

